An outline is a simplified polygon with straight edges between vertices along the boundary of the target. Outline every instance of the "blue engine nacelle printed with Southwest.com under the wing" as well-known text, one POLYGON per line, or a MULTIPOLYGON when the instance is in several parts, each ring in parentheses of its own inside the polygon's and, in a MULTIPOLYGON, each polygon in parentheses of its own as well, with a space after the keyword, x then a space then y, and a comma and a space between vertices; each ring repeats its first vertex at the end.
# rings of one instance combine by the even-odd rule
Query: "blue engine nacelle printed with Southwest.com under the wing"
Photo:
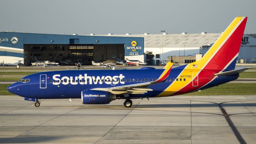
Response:
POLYGON ((99 90, 83 90, 81 98, 82 104, 108 104, 116 100, 116 95, 99 90))

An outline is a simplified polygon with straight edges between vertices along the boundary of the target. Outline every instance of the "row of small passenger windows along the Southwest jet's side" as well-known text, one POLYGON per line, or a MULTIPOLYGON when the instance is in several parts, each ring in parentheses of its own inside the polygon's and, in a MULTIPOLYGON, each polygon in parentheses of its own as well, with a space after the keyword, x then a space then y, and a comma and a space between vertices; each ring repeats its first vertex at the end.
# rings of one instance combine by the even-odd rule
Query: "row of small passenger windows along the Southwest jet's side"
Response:
MULTIPOLYGON (((104 82, 104 80, 98 80, 98 82, 104 82)), ((114 80, 112 80, 112 81, 114 81, 114 80)), ((118 82, 119 80, 118 79, 116 79, 114 82, 118 82)), ((120 80, 121 82, 142 82, 142 79, 140 78, 140 79, 124 79, 124 80, 120 80)), ((156 81, 156 78, 154 79, 154 81, 156 81)), ((173 79, 171 79, 171 78, 169 78, 169 79, 166 79, 166 81, 165 82, 171 82, 171 81, 175 81, 175 78, 173 78, 173 79)), ((176 81, 179 81, 179 79, 178 78, 176 78, 176 81)), ((182 81, 182 78, 180 78, 180 81, 182 81)), ((183 78, 183 81, 186 81, 186 78, 183 78)), ((60 82, 60 80, 54 80, 54 82, 60 82)), ((71 82, 71 80, 61 80, 61 82, 71 82)), ((72 82, 75 82, 75 80, 72 80, 72 82)), ((78 82, 78 80, 76 80, 76 82, 78 82)), ((89 82, 89 80, 88 81, 86 81, 86 80, 79 80, 79 82, 89 82)), ((94 82, 97 82, 97 80, 94 80, 94 82)), ((105 82, 110 82, 110 79, 108 79, 108 80, 105 80, 105 82)), ((143 79, 143 82, 153 82, 153 78, 144 78, 143 79)), ((50 83, 52 83, 52 80, 50 80, 50 83)))

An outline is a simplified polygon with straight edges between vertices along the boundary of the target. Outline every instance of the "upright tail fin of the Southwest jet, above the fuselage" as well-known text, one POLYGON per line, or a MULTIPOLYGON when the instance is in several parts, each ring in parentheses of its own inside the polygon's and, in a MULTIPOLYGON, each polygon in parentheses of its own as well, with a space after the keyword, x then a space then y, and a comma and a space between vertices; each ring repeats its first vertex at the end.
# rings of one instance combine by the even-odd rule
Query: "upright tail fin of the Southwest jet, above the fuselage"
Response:
POLYGON ((201 60, 193 67, 210 70, 234 70, 247 17, 236 17, 201 60))

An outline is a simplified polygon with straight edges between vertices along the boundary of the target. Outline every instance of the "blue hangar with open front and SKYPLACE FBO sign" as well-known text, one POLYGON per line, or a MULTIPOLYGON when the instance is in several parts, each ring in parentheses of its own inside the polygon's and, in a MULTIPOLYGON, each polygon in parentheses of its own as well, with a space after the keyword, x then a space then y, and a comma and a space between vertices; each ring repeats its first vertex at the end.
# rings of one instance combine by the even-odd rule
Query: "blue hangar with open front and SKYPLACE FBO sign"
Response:
POLYGON ((128 58, 144 62, 144 38, 0 32, 0 63, 51 60, 83 64, 128 58))

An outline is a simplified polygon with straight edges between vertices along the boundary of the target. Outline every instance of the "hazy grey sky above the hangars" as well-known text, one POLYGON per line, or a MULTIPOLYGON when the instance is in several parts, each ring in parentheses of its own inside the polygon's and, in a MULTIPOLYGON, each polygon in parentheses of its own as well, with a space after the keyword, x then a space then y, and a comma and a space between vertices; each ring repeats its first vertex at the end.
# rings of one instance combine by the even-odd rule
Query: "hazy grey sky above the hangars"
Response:
POLYGON ((220 33, 248 16, 256 33, 256 0, 0 0, 0 31, 47 34, 220 33))

